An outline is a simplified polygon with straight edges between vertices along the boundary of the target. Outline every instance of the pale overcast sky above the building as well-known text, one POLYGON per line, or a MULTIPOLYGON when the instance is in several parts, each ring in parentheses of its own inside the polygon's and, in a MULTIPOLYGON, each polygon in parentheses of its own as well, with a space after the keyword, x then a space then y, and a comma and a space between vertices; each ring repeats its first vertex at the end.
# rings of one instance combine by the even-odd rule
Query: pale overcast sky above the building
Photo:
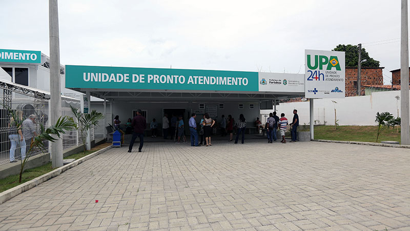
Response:
MULTIPOLYGON (((400 1, 60 0, 61 64, 304 73, 304 49, 363 44, 400 68, 400 1)), ((48 1, 0 0, 0 48, 49 55, 48 1)))

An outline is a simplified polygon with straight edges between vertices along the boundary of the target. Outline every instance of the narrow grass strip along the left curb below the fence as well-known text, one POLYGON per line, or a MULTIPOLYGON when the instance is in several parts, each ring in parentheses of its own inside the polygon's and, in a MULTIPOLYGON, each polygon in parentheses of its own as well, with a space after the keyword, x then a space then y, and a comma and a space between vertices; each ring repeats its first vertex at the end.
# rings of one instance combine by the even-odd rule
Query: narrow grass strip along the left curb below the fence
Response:
MULTIPOLYGON (((73 155, 67 156, 64 159, 80 159, 83 158, 87 155, 90 155, 91 153, 98 151, 100 149, 103 149, 107 146, 110 146, 111 143, 104 143, 98 146, 93 147, 91 150, 86 151, 86 153, 84 154, 84 151, 75 153, 73 155)), ((19 163, 19 162, 17 162, 19 163)), ((19 184, 23 184, 27 181, 31 181, 36 177, 42 176, 44 174, 46 174, 47 172, 50 172, 52 170, 54 170, 55 168, 51 167, 51 162, 43 165, 43 166, 39 166, 36 168, 31 168, 31 169, 27 169, 23 172, 23 176, 22 176, 22 183, 18 183, 18 178, 19 175, 13 175, 13 176, 8 176, 4 179, 0 179, 0 192, 6 191, 12 187, 15 187, 19 184)))

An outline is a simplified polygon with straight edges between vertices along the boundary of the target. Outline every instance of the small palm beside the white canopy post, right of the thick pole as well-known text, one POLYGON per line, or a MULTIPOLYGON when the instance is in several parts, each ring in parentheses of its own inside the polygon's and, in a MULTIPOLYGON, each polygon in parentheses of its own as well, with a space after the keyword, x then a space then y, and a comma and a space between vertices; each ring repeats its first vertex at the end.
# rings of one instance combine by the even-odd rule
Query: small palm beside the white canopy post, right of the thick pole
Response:
POLYGON ((103 113, 92 110, 91 113, 81 113, 79 108, 70 105, 71 111, 73 112, 75 118, 77 118, 77 123, 75 129, 77 130, 81 142, 84 145, 84 154, 87 151, 87 133, 91 130, 93 126, 98 126, 98 120, 104 118, 103 113))

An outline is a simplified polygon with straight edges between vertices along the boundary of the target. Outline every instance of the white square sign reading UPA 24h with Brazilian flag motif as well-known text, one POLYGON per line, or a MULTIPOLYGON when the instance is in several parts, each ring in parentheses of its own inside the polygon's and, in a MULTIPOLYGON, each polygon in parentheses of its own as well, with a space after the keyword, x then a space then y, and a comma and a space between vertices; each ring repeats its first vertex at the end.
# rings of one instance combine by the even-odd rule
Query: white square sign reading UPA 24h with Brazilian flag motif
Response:
POLYGON ((343 51, 305 50, 305 97, 344 98, 343 51))

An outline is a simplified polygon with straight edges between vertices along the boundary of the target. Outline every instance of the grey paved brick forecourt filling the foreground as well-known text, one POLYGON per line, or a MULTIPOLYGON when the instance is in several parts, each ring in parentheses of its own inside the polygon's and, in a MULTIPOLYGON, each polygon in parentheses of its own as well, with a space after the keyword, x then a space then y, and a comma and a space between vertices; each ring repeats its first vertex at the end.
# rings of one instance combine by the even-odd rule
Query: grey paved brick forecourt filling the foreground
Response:
POLYGON ((409 149, 213 143, 113 148, 0 205, 0 230, 410 230, 409 149))

